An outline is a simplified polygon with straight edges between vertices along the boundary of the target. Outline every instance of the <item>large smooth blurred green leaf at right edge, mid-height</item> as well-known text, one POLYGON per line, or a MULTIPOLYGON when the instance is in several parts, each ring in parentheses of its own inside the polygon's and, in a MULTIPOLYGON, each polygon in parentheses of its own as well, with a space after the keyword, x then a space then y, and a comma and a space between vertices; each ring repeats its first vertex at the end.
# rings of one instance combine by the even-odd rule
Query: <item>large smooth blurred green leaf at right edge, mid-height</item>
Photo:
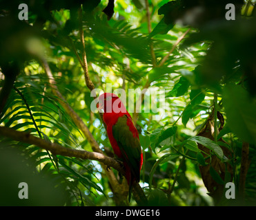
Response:
POLYGON ((256 144, 256 103, 239 85, 226 85, 223 94, 227 124, 244 142, 256 144))

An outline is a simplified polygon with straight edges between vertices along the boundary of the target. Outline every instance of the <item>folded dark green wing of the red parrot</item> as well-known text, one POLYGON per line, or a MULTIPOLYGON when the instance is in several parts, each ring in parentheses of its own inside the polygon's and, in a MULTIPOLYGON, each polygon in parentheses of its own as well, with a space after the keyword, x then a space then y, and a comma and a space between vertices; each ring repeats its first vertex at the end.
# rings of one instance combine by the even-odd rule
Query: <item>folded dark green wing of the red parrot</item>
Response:
POLYGON ((112 126, 112 134, 117 141, 120 151, 124 157, 123 159, 130 167, 132 175, 137 181, 139 181, 141 144, 139 143, 139 138, 135 132, 137 132, 137 130, 132 123, 132 119, 128 117, 128 115, 119 117, 117 123, 112 126))

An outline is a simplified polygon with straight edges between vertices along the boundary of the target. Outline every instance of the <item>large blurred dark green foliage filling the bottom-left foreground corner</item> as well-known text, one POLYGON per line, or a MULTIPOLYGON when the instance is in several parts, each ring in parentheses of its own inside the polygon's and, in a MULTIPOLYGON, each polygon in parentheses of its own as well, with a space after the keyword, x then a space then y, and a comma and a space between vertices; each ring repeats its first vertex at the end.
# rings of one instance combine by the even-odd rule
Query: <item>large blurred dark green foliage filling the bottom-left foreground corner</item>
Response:
POLYGON ((63 206, 70 198, 65 191, 66 183, 53 173, 35 169, 32 158, 26 158, 21 151, 1 143, 1 206, 63 206), (4 168, 8 167, 8 169, 4 168), (19 199, 19 183, 28 184, 28 198, 19 199), (15 190, 14 190, 15 189, 15 190))

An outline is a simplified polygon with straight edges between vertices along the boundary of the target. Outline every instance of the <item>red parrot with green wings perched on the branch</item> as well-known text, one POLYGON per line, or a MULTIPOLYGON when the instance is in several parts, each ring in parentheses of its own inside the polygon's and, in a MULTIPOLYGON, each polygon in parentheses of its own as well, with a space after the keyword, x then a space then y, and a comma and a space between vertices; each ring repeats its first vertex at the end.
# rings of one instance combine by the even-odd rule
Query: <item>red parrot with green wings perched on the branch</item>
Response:
POLYGON ((139 133, 123 102, 115 94, 105 93, 99 96, 98 109, 103 109, 108 139, 115 155, 124 162, 126 179, 129 185, 128 200, 132 195, 133 181, 139 182, 143 154, 139 142, 139 133))

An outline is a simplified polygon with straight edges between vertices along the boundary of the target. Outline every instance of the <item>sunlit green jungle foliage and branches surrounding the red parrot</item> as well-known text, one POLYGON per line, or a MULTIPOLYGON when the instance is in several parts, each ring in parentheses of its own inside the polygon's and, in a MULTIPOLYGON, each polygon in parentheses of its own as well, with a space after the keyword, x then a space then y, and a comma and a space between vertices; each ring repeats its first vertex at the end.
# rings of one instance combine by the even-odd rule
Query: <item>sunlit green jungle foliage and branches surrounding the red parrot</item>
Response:
POLYGON ((255 206, 254 3, 0 1, 1 206, 255 206), (107 83, 165 91, 163 114, 131 113, 144 165, 130 203, 90 110, 107 83))

